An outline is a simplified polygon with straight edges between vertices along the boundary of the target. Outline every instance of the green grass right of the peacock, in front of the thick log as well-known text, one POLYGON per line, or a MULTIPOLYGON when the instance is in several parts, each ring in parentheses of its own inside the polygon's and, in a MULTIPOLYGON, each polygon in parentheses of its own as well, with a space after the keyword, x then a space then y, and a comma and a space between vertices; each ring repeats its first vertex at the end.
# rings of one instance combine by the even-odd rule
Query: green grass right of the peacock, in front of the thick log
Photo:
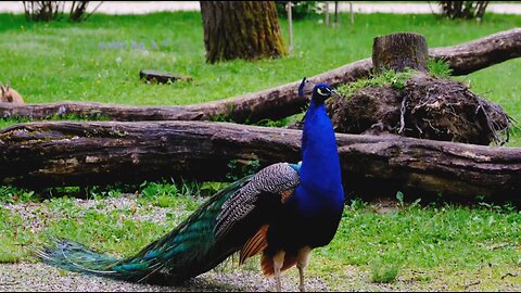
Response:
MULTIPOLYGON (((378 214, 371 205, 355 203, 346 207, 333 242, 315 252, 312 270, 328 276, 356 267, 369 271, 371 282, 409 280, 427 285, 422 290, 439 283, 457 289, 465 276, 496 291, 505 284, 504 276, 519 272, 520 224, 521 213, 509 205, 405 204, 378 214), (495 272, 488 273, 488 267, 495 272)), ((329 281, 343 285, 342 276, 329 281)), ((519 285, 521 278, 505 281, 519 285)))

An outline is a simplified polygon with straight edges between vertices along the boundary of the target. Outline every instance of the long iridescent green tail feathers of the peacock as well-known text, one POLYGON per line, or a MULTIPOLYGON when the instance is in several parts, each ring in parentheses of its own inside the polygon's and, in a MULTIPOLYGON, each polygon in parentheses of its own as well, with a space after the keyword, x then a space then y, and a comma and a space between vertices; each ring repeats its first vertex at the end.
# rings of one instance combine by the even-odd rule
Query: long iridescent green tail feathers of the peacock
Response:
POLYGON ((241 249, 239 242, 217 241, 214 229, 223 204, 251 178, 219 191, 169 233, 129 258, 117 259, 67 240, 55 240, 36 255, 55 267, 118 280, 151 283, 187 280, 214 268, 241 249))

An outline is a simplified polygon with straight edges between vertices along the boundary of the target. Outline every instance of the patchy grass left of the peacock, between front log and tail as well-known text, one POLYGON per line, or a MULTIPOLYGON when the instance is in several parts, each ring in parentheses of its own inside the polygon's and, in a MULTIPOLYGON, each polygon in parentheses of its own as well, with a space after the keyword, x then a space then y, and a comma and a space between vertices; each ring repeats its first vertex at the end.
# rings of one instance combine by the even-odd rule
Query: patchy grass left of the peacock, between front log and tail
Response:
POLYGON ((66 195, 49 199, 49 191, 38 196, 31 193, 30 198, 18 196, 15 200, 13 194, 23 191, 2 187, 0 202, 4 206, 0 206, 0 263, 17 262, 21 258, 33 260, 34 249, 41 247, 53 237, 89 243, 115 255, 130 255, 166 233, 199 207, 203 198, 198 196, 201 193, 199 188, 194 190, 196 194, 188 193, 192 188, 190 183, 144 182, 134 196, 126 194, 131 198, 130 204, 106 209, 106 203, 101 200, 122 198, 119 192, 90 191, 88 198, 100 202, 86 207, 79 204, 81 201, 66 195), (169 192, 174 189, 186 193, 169 192), (5 203, 25 203, 26 208, 37 207, 26 214, 30 216, 22 217, 5 203), (162 209, 164 207, 168 209, 162 209), (164 214, 165 222, 149 219, 157 211, 164 214), (136 219, 137 216, 144 219, 136 219))

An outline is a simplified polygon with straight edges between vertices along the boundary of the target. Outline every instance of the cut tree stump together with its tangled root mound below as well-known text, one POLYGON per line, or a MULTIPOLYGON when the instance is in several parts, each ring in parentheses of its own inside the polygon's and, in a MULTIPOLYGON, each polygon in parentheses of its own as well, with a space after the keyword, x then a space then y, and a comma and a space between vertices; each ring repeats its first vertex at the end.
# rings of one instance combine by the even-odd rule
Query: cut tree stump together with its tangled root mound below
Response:
MULTIPOLYGON (((405 82, 363 88, 327 104, 333 127, 344 133, 393 133, 487 145, 508 141, 511 118, 465 85, 428 73, 427 41, 417 34, 374 38, 374 73, 414 69, 405 82)), ((396 78, 395 78, 396 79, 396 78)))

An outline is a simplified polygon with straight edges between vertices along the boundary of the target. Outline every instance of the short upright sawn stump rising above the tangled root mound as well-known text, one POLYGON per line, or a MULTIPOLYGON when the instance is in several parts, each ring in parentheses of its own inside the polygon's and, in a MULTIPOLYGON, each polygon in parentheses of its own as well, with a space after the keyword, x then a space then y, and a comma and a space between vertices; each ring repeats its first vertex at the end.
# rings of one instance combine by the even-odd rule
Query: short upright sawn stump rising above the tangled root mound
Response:
POLYGON ((427 72, 429 50, 422 35, 401 33, 376 37, 372 44, 372 64, 376 74, 382 68, 403 72, 409 67, 427 72))

